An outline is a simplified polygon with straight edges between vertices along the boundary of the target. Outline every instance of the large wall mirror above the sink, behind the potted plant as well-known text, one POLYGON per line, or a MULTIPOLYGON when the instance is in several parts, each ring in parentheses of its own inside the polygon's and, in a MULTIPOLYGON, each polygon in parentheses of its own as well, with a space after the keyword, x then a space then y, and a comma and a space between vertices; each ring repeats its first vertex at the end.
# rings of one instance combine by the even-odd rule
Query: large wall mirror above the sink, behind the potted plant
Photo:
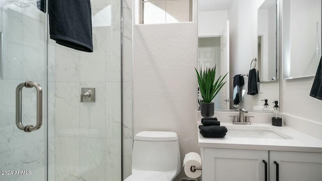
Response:
MULTIPOLYGON (((216 65, 218 75, 229 71, 226 77, 227 86, 222 88, 220 95, 218 94, 213 100, 216 111, 236 111, 244 108, 248 111, 261 112, 264 107, 264 102, 261 100, 268 99, 271 110, 273 110, 272 102, 279 101, 279 81, 276 73, 277 57, 279 57, 278 8, 276 0, 198 1, 198 67, 216 65), (261 9, 265 11, 265 22, 261 20, 260 24, 266 26, 261 27, 262 32, 257 26, 257 14, 261 9), (269 15, 271 17, 268 17, 269 15), (244 36, 245 34, 247 36, 244 36), (249 58, 240 58, 243 56, 249 58), (251 65, 252 59, 255 58, 259 60, 251 65), (243 100, 239 105, 235 105, 233 77, 242 74, 247 82, 247 74, 254 66, 260 72, 258 94, 248 95, 248 86, 245 83, 241 90, 243 100)), ((202 100, 200 95, 198 99, 202 100)))

